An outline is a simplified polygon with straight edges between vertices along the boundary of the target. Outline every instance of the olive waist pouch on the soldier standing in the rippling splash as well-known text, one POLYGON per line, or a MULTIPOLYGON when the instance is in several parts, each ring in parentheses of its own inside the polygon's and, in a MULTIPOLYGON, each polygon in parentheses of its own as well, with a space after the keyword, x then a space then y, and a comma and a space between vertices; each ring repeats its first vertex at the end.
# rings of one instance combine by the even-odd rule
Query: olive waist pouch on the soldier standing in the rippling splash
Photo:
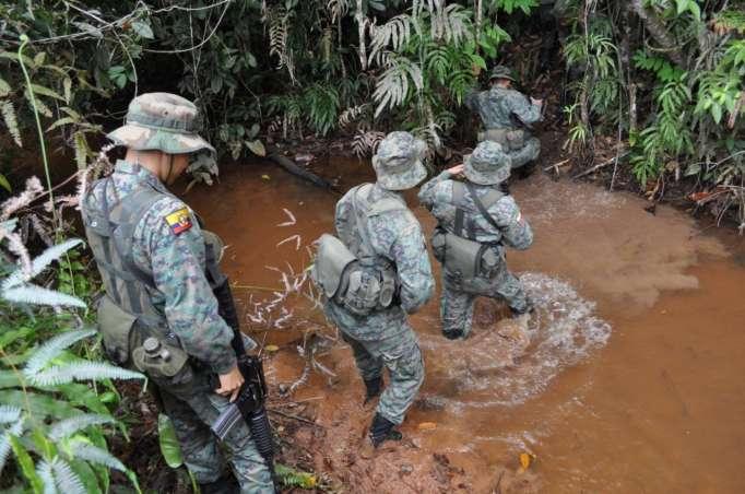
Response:
POLYGON ((463 284, 475 279, 488 280, 497 274, 501 256, 498 247, 481 244, 435 228, 431 237, 435 258, 446 268, 447 273, 463 284))

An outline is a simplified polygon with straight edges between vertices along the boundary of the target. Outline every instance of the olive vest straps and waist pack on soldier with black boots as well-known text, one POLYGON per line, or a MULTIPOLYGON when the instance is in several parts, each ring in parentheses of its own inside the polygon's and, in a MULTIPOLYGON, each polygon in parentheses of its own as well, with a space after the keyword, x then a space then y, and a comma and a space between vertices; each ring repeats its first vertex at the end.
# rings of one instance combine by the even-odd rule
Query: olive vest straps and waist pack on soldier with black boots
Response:
POLYGON ((371 189, 372 185, 365 184, 351 192, 354 225, 344 230, 358 235, 351 235, 347 246, 333 235, 323 234, 311 271, 314 282, 328 299, 358 316, 390 307, 399 284, 395 266, 375 254, 367 228, 369 217, 406 205, 394 198, 370 203, 371 189))

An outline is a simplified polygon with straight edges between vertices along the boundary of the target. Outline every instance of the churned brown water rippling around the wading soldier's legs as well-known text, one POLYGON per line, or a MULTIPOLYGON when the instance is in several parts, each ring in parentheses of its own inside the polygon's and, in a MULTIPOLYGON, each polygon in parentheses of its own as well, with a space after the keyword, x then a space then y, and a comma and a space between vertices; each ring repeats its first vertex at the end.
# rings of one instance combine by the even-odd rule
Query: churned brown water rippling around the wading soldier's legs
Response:
POLYGON ((528 272, 520 280, 536 308, 530 321, 474 324, 471 338, 462 342, 422 337, 433 354, 448 355, 427 362, 430 368, 435 365, 435 389, 447 408, 523 403, 544 391, 561 369, 606 344, 611 326, 595 315, 594 302, 545 274, 528 272))

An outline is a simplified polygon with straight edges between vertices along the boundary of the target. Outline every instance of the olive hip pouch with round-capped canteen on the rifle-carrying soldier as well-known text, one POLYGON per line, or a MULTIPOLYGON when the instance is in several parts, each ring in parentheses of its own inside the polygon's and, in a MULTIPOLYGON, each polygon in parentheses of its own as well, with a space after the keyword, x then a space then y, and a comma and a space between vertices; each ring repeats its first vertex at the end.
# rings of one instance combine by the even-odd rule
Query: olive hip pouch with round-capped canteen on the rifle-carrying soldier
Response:
POLYGON ((146 338, 132 351, 132 362, 156 385, 169 391, 189 385, 193 379, 189 355, 180 346, 156 337, 146 338))

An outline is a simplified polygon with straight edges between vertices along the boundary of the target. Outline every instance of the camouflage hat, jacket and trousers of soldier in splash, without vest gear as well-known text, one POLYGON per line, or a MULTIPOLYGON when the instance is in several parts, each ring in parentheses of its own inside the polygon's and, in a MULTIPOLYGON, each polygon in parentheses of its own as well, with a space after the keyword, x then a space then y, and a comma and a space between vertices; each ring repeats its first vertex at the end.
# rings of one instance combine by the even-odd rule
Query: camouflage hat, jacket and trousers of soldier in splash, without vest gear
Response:
MULTIPOLYGON (((480 199, 492 192, 500 183, 509 177, 509 158, 499 144, 485 141, 478 144, 471 156, 465 160, 465 178, 473 184, 480 199), (481 170, 480 170, 481 168, 481 170)), ((456 208, 453 202, 454 181, 446 170, 433 178, 419 191, 419 201, 437 217, 439 226, 453 233, 456 208)), ((530 225, 522 217, 515 199, 505 193, 490 208, 488 213, 499 228, 496 228, 478 211, 470 195, 464 196, 465 217, 471 232, 470 239, 493 244, 500 263, 496 274, 483 279, 477 291, 463 291, 447 268, 442 269, 442 298, 440 311, 442 331, 448 337, 466 337, 471 331, 473 305, 477 296, 504 298, 515 313, 525 313, 530 302, 520 281, 507 269, 505 245, 516 249, 527 249, 533 242, 530 225)))

